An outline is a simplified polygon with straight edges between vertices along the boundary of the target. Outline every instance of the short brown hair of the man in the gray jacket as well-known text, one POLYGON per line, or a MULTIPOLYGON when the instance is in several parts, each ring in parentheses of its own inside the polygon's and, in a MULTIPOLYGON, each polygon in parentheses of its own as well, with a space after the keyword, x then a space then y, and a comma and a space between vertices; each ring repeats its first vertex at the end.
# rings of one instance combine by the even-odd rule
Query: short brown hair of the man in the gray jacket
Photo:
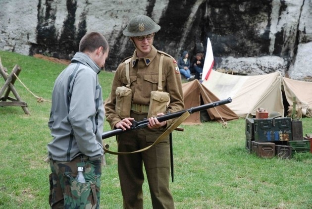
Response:
POLYGON ((108 43, 105 37, 98 32, 91 32, 80 40, 79 52, 94 52, 99 47, 103 47, 103 52, 108 50, 108 43))

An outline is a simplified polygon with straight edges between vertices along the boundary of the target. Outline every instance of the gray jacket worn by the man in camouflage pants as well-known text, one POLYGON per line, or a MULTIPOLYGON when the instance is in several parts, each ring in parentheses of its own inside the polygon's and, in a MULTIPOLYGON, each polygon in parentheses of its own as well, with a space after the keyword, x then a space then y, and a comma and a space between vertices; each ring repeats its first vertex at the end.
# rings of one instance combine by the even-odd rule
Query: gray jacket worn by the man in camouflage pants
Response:
POLYGON ((70 161, 83 154, 90 160, 103 156, 104 105, 98 73, 101 68, 85 53, 77 52, 56 78, 49 128, 53 140, 49 157, 70 161))

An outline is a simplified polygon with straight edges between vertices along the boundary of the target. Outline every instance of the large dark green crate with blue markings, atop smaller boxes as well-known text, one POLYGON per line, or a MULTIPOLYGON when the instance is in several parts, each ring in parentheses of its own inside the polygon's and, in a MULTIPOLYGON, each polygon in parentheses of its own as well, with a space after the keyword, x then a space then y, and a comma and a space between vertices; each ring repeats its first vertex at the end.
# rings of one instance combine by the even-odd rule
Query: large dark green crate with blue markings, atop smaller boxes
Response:
POLYGON ((291 118, 254 119, 255 141, 291 141, 291 118))

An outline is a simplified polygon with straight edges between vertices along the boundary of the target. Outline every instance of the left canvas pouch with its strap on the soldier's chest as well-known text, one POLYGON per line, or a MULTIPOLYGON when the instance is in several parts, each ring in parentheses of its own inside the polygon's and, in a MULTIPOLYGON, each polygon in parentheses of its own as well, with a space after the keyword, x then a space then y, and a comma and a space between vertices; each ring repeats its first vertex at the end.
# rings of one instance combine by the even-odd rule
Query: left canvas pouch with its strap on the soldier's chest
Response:
POLYGON ((130 117, 132 90, 130 89, 130 76, 129 76, 129 62, 131 58, 125 61, 126 63, 126 77, 128 84, 126 86, 119 86, 116 88, 116 105, 115 111, 118 116, 123 119, 130 117))

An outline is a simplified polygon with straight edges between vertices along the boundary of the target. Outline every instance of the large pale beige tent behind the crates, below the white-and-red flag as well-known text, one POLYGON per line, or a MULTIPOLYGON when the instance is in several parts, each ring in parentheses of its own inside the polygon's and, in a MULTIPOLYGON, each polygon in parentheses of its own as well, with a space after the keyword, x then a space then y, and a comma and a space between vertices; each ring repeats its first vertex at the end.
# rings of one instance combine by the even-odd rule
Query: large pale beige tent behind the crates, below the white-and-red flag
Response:
POLYGON ((220 100, 231 97, 232 103, 227 106, 240 117, 256 115, 258 108, 284 112, 280 72, 241 76, 212 70, 202 84, 220 100))

